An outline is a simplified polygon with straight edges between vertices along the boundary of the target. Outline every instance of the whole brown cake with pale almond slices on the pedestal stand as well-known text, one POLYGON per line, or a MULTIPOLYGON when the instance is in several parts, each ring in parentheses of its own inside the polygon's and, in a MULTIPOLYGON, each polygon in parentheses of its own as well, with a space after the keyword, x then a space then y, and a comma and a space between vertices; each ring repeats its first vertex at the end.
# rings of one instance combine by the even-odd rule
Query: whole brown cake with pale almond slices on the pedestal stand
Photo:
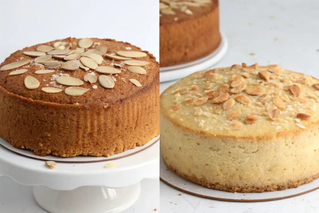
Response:
POLYGON ((126 42, 66 38, 0 65, 0 137, 36 155, 110 156, 159 134, 159 63, 126 42))

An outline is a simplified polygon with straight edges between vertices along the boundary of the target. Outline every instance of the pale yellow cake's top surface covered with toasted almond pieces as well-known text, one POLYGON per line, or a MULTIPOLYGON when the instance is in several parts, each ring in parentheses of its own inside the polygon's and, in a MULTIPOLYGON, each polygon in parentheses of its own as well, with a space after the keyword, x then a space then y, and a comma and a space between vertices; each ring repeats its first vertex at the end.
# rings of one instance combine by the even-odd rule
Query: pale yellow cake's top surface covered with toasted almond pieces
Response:
POLYGON ((191 131, 238 137, 300 131, 317 123, 319 81, 278 65, 195 72, 161 95, 163 116, 191 131))

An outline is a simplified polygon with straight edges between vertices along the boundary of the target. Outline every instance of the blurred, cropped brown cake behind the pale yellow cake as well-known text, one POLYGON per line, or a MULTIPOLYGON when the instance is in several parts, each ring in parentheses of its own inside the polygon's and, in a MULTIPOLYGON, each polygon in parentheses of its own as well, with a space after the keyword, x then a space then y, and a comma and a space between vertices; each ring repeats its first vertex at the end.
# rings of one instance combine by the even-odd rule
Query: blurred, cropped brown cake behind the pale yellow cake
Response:
POLYGON ((219 47, 218 0, 159 0, 160 67, 195 61, 219 47))

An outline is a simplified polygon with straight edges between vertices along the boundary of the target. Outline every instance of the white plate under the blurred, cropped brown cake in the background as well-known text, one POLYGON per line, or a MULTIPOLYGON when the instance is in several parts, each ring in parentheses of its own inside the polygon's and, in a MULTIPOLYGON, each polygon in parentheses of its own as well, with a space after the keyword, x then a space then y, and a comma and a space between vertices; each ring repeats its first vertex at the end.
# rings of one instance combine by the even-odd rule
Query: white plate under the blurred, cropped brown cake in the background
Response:
POLYGON ((217 64, 222 57, 226 54, 228 48, 228 42, 223 33, 221 33, 221 42, 213 53, 210 55, 201 58, 197 61, 192 61, 182 65, 175 65, 169 67, 160 67, 159 68, 159 81, 166 82, 176 79, 181 79, 189 74, 205 70, 217 64))

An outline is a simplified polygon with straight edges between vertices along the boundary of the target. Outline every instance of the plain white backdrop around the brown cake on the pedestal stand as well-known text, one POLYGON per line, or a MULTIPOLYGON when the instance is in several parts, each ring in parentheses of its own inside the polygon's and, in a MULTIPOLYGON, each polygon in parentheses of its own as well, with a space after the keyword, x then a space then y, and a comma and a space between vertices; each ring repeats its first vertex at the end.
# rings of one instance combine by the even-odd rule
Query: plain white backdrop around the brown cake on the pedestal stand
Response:
MULTIPOLYGON (((66 37, 130 42, 158 59, 158 5, 158 0, 0 0, 0 62, 18 49, 66 37)), ((159 209, 159 180, 143 180, 141 188, 125 213, 159 209)), ((31 189, 0 177, 0 213, 46 212, 31 189)))

